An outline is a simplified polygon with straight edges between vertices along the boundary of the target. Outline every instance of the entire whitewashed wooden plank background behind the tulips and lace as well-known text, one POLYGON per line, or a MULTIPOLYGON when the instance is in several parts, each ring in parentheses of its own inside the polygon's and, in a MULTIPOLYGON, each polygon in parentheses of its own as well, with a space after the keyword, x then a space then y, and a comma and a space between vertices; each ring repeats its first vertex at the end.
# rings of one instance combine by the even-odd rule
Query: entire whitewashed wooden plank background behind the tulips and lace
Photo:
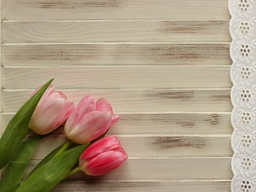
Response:
MULTIPOLYGON (((54 191, 230 191, 228 0, 2 0, 2 131, 34 87, 114 106, 129 154, 54 191)), ((40 143, 31 167, 58 146, 40 143)))

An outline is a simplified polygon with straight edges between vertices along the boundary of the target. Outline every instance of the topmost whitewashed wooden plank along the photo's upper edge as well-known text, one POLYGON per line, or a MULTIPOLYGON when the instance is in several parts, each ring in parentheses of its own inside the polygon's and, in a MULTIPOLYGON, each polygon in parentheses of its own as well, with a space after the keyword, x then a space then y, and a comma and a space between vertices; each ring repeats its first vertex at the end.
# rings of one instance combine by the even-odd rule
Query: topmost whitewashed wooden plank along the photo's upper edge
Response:
POLYGON ((2 0, 2 4, 5 20, 230 19, 228 0, 2 0))

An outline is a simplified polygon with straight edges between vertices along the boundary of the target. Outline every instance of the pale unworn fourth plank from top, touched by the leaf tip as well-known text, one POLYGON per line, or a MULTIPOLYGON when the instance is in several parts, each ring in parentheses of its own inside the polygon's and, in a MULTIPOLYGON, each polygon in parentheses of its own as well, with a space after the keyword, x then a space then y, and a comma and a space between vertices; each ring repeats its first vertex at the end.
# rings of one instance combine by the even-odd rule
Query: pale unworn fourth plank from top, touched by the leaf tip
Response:
POLYGON ((232 86, 230 66, 8 67, 2 70, 2 86, 7 90, 33 89, 50 78, 55 78, 54 84, 60 89, 80 90, 209 89, 232 86))

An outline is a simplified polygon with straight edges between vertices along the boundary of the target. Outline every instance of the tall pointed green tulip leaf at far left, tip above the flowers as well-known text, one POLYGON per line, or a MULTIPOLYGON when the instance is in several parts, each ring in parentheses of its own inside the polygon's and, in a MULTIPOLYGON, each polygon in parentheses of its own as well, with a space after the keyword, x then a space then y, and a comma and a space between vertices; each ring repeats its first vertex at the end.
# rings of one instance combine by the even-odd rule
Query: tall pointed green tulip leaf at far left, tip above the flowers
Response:
POLYGON ((22 139, 30 132, 29 123, 35 107, 38 105, 42 94, 54 79, 46 82, 14 115, 0 139, 0 169, 6 166, 13 155, 18 151, 22 139))

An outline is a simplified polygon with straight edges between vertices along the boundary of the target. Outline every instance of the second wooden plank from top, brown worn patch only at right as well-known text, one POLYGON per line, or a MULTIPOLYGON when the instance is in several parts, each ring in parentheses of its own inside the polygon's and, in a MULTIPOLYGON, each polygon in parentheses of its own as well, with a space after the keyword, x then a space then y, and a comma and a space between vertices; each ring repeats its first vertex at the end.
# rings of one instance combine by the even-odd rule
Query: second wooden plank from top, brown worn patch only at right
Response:
POLYGON ((230 42, 229 21, 3 22, 4 43, 230 42))

